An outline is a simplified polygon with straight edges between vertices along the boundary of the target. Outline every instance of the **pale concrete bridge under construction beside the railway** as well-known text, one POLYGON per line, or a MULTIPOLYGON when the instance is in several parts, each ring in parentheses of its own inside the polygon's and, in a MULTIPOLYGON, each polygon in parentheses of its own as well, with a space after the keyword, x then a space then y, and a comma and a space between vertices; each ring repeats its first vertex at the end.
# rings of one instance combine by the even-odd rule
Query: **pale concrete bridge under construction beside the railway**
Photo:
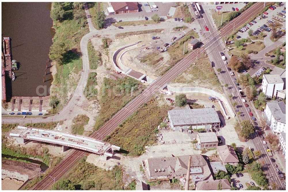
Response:
POLYGON ((16 137, 17 143, 25 144, 29 141, 47 143, 62 146, 65 152, 69 148, 83 150, 107 157, 112 157, 114 150, 119 151, 120 147, 82 135, 61 133, 34 127, 18 126, 19 133, 10 133, 11 137, 16 137))

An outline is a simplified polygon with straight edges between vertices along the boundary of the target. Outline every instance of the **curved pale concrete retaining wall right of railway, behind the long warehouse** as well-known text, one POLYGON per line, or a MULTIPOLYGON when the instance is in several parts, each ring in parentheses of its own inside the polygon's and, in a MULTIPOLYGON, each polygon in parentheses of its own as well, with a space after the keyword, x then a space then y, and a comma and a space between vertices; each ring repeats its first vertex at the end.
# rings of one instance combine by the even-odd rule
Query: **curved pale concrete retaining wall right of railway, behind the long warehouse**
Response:
POLYGON ((168 91, 176 92, 176 93, 204 93, 207 95, 215 96, 219 99, 219 105, 222 108, 223 115, 229 119, 229 116, 234 118, 235 114, 232 107, 229 105, 229 101, 226 97, 210 88, 206 87, 172 87, 167 85, 168 91), (227 113, 228 112, 228 113, 227 113))

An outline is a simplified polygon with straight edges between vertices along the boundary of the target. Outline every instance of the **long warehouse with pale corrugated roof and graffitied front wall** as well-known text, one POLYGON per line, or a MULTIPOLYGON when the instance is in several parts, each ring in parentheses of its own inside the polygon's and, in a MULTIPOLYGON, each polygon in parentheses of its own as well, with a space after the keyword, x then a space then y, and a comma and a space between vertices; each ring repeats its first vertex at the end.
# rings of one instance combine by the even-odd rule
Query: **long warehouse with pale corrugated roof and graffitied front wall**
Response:
POLYGON ((168 118, 173 131, 182 132, 187 129, 220 127, 220 120, 215 108, 170 110, 168 118))

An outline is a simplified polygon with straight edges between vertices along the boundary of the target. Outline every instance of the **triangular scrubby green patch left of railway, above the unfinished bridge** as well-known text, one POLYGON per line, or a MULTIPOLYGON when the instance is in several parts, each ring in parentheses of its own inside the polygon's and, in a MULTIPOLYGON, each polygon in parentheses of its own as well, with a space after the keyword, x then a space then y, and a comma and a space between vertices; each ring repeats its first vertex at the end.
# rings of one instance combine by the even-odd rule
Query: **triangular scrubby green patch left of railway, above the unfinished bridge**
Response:
POLYGON ((100 89, 99 103, 101 109, 96 119, 94 131, 98 130, 107 120, 109 120, 117 111, 124 107, 136 95, 142 92, 143 85, 131 77, 123 79, 104 78, 100 89), (131 97, 131 88, 133 95, 131 97))

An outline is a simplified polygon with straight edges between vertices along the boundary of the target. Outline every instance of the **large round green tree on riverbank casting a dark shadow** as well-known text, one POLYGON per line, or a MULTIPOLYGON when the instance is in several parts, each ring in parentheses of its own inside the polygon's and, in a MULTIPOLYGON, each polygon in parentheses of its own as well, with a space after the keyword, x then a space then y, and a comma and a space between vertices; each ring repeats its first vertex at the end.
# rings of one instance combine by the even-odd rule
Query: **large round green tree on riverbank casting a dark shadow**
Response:
POLYGON ((63 63, 63 56, 69 50, 69 46, 64 42, 55 41, 50 47, 49 58, 55 60, 58 64, 63 63))

